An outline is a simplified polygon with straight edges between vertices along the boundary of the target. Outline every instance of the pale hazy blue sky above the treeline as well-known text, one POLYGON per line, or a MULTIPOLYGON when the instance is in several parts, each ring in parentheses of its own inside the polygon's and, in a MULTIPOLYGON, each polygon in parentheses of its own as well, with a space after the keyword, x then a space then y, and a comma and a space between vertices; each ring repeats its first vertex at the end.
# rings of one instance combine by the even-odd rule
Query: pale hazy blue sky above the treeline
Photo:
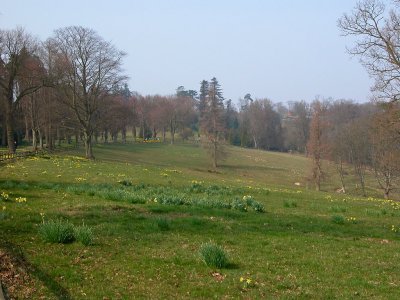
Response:
POLYGON ((127 53, 129 87, 170 95, 217 77, 225 98, 274 102, 317 95, 369 100, 372 85, 346 53, 337 19, 353 0, 13 0, 0 28, 25 27, 41 40, 81 25, 127 53))

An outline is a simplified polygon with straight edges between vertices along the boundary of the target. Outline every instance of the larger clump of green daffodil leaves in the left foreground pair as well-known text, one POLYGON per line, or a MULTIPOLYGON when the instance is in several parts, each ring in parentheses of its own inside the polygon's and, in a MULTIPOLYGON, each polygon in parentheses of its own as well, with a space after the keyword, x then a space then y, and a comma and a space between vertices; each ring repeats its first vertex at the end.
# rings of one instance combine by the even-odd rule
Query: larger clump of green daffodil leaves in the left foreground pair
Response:
POLYGON ((62 220, 43 222, 39 234, 44 241, 50 243, 67 244, 75 240, 74 226, 62 220))

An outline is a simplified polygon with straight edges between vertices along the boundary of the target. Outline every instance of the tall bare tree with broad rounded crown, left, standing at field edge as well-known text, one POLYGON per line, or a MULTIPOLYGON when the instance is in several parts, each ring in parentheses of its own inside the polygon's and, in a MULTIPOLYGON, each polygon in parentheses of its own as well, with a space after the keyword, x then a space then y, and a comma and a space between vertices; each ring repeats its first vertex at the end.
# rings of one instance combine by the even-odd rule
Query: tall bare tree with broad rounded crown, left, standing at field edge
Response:
POLYGON ((121 64, 124 53, 94 30, 80 26, 61 28, 49 40, 58 56, 57 84, 60 97, 75 114, 84 136, 86 158, 93 158, 92 137, 103 99, 125 80, 121 64))

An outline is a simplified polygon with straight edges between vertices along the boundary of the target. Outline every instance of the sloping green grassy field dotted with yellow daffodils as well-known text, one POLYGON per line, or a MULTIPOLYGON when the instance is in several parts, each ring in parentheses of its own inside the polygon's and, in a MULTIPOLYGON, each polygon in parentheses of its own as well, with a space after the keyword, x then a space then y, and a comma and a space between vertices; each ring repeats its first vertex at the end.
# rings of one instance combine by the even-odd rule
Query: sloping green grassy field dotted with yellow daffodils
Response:
MULTIPOLYGON (((0 256, 14 298, 400 298, 400 203, 308 189, 302 156, 229 148, 218 172, 191 144, 99 145, 0 165, 0 256), (251 201, 248 201, 251 199, 251 201), (45 242, 41 224, 94 240, 45 242), (229 263, 207 266, 212 242, 229 263)), ((356 186, 349 178, 349 189, 356 186)), ((0 265, 1 267, 1 265, 0 265)))

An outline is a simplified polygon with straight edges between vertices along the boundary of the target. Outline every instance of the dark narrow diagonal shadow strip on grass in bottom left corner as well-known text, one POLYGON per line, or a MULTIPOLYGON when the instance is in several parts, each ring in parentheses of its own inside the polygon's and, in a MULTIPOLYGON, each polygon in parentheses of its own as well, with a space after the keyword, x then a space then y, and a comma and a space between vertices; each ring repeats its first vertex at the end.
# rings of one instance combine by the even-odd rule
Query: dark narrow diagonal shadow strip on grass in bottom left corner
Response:
POLYGON ((54 278, 36 265, 27 261, 21 249, 17 245, 8 241, 0 241, 0 247, 7 250, 8 254, 18 262, 19 266, 23 266, 30 275, 33 275, 39 279, 44 286, 57 297, 57 299, 72 299, 70 293, 57 281, 55 281, 54 278))

